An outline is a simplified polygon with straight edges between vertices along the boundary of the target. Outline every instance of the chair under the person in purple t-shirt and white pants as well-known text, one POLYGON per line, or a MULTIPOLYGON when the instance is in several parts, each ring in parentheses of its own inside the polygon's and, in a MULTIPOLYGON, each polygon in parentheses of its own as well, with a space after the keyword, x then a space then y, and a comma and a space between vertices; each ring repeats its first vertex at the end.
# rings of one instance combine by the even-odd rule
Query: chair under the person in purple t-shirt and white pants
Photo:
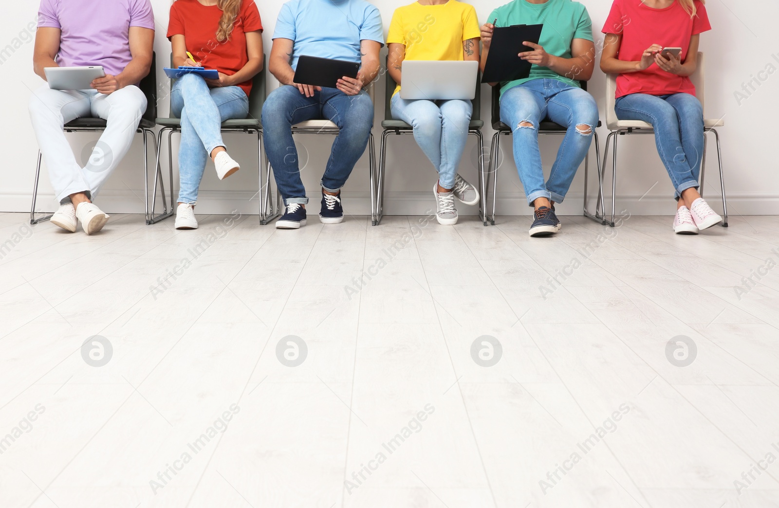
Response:
MULTIPOLYGON (((143 113, 143 116, 141 117, 141 121, 138 124, 138 129, 136 129, 136 133, 143 134, 143 171, 146 175, 143 180, 143 186, 145 189, 146 194, 146 220, 149 220, 149 191, 148 191, 148 185, 149 185, 149 159, 148 159, 148 141, 147 136, 151 136, 152 141, 155 141, 154 138, 154 118, 157 117, 157 55, 152 53, 151 58, 151 69, 149 71, 148 76, 141 79, 141 83, 139 85, 140 90, 143 92, 143 95, 146 96, 146 111, 143 113)), ((71 122, 68 122, 65 124, 65 127, 63 127, 62 130, 65 132, 103 132, 106 128, 108 123, 103 118, 76 118, 75 120, 72 120, 71 122)), ((156 151, 156 150, 155 150, 156 151)), ((30 224, 37 224, 43 220, 48 220, 51 218, 51 215, 49 214, 45 217, 39 217, 35 218, 35 203, 37 201, 38 196, 38 181, 41 178, 41 150, 38 150, 38 162, 37 162, 37 168, 35 169, 35 183, 33 185, 33 206, 30 209, 30 224)), ((162 175, 157 171, 157 175, 155 176, 155 184, 157 182, 157 178, 162 178, 162 175)), ((156 186, 156 185, 155 185, 156 186)))

